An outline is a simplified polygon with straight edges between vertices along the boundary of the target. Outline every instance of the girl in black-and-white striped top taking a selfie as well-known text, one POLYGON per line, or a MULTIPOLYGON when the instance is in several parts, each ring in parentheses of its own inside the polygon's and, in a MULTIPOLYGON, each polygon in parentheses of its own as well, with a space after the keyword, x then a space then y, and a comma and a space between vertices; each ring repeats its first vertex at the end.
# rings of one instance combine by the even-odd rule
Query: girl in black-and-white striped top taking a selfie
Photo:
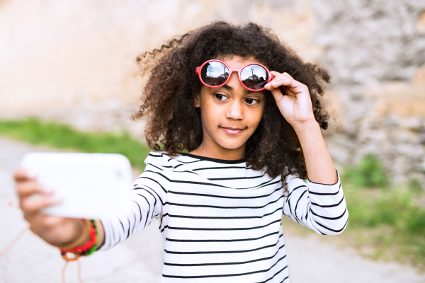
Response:
POLYGON ((323 235, 348 223, 320 129, 329 119, 327 71, 254 23, 211 23, 149 54, 137 57, 149 79, 134 118, 147 118, 155 152, 128 209, 97 225, 41 215, 60 200, 18 171, 31 229, 62 252, 86 255, 157 219, 162 282, 289 282, 281 217, 323 235))

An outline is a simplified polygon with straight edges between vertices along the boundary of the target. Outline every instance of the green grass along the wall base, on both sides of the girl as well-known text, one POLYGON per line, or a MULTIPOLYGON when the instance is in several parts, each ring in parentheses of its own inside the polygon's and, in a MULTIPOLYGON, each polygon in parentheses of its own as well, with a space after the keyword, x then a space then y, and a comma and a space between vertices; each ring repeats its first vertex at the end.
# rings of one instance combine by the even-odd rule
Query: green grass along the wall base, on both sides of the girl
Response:
MULTIPOLYGON (((81 132, 36 119, 0 120, 0 135, 57 149, 123 154, 140 170, 149 153, 127 132, 81 132)), ((388 180, 375 156, 365 156, 358 165, 345 168, 341 182, 350 216, 339 238, 373 258, 409 261, 425 269, 425 209, 415 205, 425 194, 417 180, 404 187, 391 187, 388 180)))

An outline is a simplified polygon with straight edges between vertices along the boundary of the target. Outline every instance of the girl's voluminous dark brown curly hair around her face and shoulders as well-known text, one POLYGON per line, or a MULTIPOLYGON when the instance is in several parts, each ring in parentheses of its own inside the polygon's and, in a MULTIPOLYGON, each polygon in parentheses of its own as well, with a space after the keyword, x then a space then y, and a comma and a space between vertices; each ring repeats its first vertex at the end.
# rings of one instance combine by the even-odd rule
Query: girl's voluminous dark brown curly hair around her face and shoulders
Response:
MULTIPOLYGON (((273 71, 287 72, 304 83, 312 99, 314 117, 327 129, 329 114, 324 108, 323 83, 329 83, 326 70, 302 62, 271 29, 255 23, 232 25, 217 21, 174 37, 159 49, 137 56, 140 74, 147 76, 139 111, 132 119, 147 118, 145 139, 156 151, 163 146, 170 156, 193 151, 203 141, 200 109, 193 99, 203 86, 195 76, 196 67, 209 59, 254 57, 273 71)), ((266 107, 259 127, 246 141, 246 162, 254 170, 265 170, 275 178, 281 175, 307 178, 300 141, 293 127, 283 118, 270 91, 263 91, 266 107)))

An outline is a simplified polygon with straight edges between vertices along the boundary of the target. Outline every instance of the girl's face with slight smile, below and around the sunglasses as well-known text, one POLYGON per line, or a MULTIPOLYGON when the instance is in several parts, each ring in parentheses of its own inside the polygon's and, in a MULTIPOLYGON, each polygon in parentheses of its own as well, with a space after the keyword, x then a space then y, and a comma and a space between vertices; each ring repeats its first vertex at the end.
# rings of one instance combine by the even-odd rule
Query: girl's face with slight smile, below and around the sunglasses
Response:
MULTIPOLYGON (((231 68, 261 63, 254 58, 225 57, 221 61, 231 68)), ((254 134, 263 115, 265 96, 262 91, 248 91, 233 72, 220 88, 202 86, 195 98, 200 107, 203 126, 203 148, 211 151, 237 150, 244 153, 246 141, 254 134), (226 150, 227 149, 227 150, 226 150)))

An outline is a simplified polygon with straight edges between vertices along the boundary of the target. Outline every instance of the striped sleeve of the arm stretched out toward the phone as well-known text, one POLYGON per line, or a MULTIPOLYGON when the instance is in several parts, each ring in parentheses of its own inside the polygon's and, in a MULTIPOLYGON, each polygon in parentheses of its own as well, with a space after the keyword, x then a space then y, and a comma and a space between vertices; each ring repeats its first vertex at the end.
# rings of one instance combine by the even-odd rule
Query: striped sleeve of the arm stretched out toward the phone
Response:
POLYGON ((105 243, 100 250, 107 250, 125 241, 128 237, 148 226, 152 219, 162 219, 163 206, 169 186, 169 167, 162 166, 161 156, 150 154, 147 158, 145 172, 135 180, 125 199, 125 209, 101 218, 105 230, 105 243), (149 161, 158 157, 156 166, 149 161))

